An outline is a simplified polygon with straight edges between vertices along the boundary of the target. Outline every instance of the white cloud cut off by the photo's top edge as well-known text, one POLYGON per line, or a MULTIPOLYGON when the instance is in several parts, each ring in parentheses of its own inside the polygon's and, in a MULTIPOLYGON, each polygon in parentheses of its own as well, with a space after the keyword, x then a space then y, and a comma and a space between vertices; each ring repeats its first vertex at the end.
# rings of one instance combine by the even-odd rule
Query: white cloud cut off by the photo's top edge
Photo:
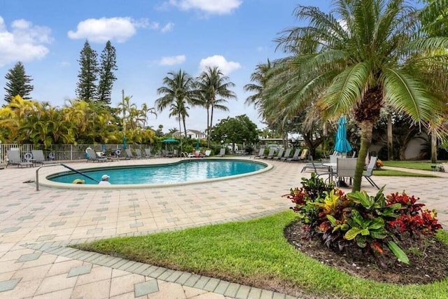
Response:
POLYGON ((205 13, 225 15, 232 13, 237 9, 242 1, 241 0, 169 0, 168 3, 172 6, 176 6, 183 11, 189 11, 190 9, 197 9, 204 11, 205 13))

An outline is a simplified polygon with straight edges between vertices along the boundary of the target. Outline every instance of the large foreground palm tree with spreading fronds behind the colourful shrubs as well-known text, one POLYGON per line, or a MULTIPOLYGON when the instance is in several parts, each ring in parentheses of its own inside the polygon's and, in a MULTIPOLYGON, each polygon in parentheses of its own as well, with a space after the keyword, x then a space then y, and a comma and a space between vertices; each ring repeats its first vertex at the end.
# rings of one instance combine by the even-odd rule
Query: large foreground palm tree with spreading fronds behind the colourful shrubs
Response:
MULTIPOLYGON (((423 8, 424 9, 424 8, 423 8)), ((292 118, 311 104, 324 118, 353 113, 361 131, 353 190, 360 190, 372 128, 383 106, 428 125, 446 109, 448 38, 419 31, 421 13, 405 0, 337 0, 331 13, 297 6, 305 27, 283 31, 276 41, 292 55, 278 68, 289 80, 272 80, 271 106, 292 118)), ((279 75, 280 76, 280 75, 279 75)))

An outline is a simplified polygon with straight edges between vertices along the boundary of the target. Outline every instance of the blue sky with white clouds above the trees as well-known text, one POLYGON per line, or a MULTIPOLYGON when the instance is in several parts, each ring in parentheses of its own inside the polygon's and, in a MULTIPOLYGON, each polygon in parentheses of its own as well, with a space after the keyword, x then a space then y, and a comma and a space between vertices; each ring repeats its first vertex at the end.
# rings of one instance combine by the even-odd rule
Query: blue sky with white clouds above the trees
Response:
MULTIPOLYGON (((1 0, 0 102, 4 78, 16 62, 33 79, 32 99, 63 106, 76 99, 78 60, 85 40, 101 54, 106 41, 116 48, 118 71, 111 106, 125 95, 141 107, 155 106, 157 89, 170 71, 196 77, 207 66, 218 66, 235 83, 237 100, 222 118, 246 114, 259 129, 265 127, 244 85, 257 64, 283 57, 274 39, 288 27, 300 25, 293 16, 298 4, 328 11, 330 0, 1 0)), ((190 108, 187 129, 204 132, 207 113, 190 108)), ((179 127, 169 110, 149 114, 149 124, 163 131, 179 127)))

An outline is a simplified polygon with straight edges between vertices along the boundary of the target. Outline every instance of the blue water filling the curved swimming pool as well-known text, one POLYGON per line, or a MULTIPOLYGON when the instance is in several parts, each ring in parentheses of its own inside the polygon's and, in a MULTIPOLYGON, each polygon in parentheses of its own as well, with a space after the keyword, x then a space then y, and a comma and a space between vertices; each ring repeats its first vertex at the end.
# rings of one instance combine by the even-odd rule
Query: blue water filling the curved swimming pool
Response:
MULTIPOLYGON (((221 178, 246 174, 265 168, 259 162, 241 160, 184 160, 168 165, 138 165, 133 167, 102 167, 83 172, 93 179, 101 181, 103 174, 111 176, 112 184, 147 184, 147 183, 179 183, 204 179, 221 178)), ((97 184, 80 174, 64 172, 47 178, 59 183, 72 183, 75 179, 83 179, 86 184, 97 184)))

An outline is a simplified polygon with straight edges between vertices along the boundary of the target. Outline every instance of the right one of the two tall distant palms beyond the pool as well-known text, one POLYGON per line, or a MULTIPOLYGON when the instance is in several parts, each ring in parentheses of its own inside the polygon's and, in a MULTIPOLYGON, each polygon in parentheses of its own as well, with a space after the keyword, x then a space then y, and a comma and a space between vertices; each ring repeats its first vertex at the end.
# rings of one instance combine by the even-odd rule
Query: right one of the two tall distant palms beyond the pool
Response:
POLYGON ((214 109, 229 111, 224 104, 227 99, 236 99, 237 95, 229 88, 235 84, 218 67, 207 67, 197 78, 198 104, 207 109, 207 147, 210 147, 210 128, 213 125, 214 109))

